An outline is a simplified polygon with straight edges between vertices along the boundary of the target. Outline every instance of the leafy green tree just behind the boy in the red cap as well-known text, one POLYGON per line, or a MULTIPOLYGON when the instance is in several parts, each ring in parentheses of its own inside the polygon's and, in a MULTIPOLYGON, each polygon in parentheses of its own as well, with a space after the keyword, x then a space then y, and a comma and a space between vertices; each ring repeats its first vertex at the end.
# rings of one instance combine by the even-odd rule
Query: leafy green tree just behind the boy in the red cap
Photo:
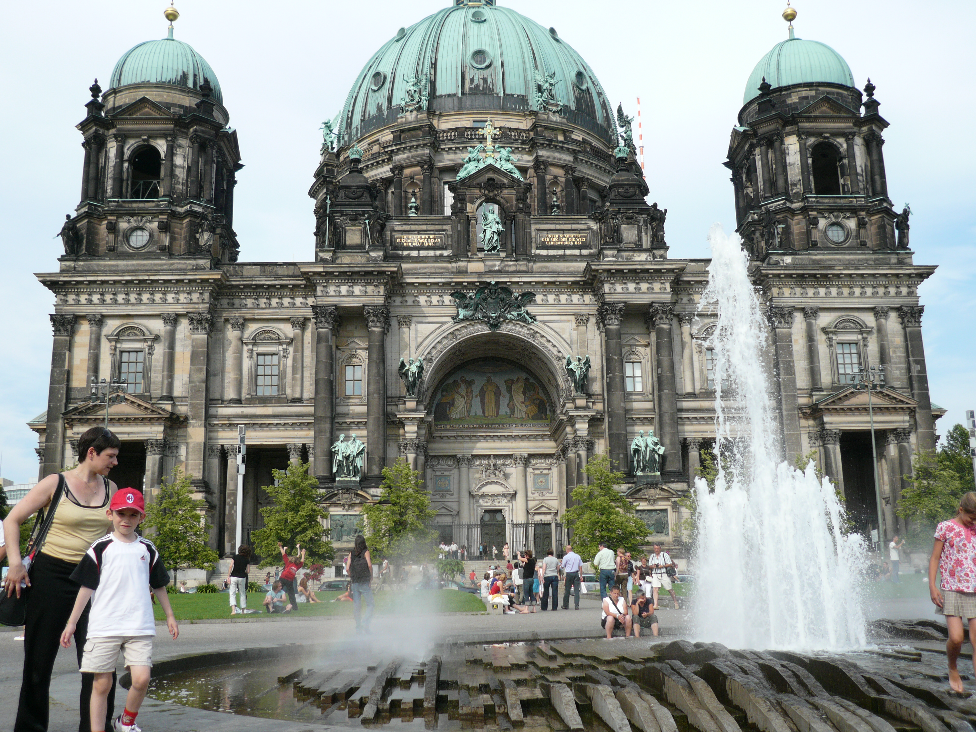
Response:
POLYGON ((145 508, 142 528, 154 532, 152 543, 170 570, 204 569, 218 559, 210 548, 210 524, 201 512, 207 502, 193 498, 192 477, 173 468, 172 476, 163 478, 159 495, 145 508))

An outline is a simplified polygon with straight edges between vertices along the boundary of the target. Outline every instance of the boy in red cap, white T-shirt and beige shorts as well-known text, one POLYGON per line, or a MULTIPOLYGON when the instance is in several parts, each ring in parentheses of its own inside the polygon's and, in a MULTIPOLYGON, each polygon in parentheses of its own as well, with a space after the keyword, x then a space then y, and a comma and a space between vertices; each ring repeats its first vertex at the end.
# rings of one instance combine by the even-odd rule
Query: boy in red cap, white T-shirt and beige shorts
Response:
POLYGON ((156 623, 152 603, 145 592, 151 587, 166 613, 166 626, 176 639, 180 635, 166 586, 170 576, 152 542, 136 533, 145 517, 142 493, 123 488, 112 496, 108 507, 114 531, 93 544, 79 562, 71 579, 81 585, 74 610, 68 618, 61 645, 71 645, 75 624, 89 598, 92 612, 88 623, 88 643, 81 660, 81 671, 95 674, 92 685, 92 732, 105 732, 105 710, 112 671, 120 652, 132 675, 132 686, 125 701, 125 712, 112 720, 114 732, 142 732, 136 715, 149 687, 152 668, 152 636, 156 623), (93 596, 94 592, 94 596, 93 596))

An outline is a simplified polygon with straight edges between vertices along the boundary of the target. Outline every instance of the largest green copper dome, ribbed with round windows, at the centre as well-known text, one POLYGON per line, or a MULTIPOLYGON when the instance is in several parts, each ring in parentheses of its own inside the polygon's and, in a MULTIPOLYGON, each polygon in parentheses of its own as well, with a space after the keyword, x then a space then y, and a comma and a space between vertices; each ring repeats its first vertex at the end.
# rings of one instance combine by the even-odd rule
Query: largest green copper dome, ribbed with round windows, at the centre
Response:
POLYGON ((419 81, 428 110, 490 116, 495 110, 538 109, 537 78, 546 77, 551 93, 544 106, 558 105, 571 123, 616 140, 611 105, 596 75, 555 28, 493 2, 456 0, 401 28, 366 63, 340 116, 342 142, 395 121, 408 96, 408 79, 414 81, 411 91, 419 81))

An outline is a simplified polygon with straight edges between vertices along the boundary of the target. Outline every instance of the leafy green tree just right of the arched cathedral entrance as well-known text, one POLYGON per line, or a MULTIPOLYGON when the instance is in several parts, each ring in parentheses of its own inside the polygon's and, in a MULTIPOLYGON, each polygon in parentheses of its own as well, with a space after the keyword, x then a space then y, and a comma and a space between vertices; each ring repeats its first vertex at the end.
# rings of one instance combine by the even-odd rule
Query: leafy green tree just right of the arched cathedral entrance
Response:
POLYGON ((586 469, 590 482, 573 489, 577 505, 563 516, 573 531, 573 549, 586 559, 593 557, 601 541, 612 549, 635 551, 647 541, 650 529, 616 488, 624 482, 624 473, 611 470, 606 455, 594 455, 586 469))

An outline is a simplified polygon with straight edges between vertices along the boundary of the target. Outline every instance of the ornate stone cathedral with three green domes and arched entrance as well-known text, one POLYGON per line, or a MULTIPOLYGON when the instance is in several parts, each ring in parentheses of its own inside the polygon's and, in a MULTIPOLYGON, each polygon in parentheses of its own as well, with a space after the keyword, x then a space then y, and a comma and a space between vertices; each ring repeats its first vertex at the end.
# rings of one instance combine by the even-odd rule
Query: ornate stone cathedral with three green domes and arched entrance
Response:
MULTIPOLYGON (((38 275, 55 303, 47 411, 29 424, 41 475, 108 409, 116 483, 151 502, 183 468, 229 553, 261 527, 272 468, 310 464, 343 547, 404 458, 441 538, 474 554, 565 543, 573 489, 607 454, 655 540, 687 555, 680 498, 714 439, 709 263, 668 256, 667 188, 571 39, 501 0, 444 3, 364 56, 323 124, 302 262, 241 251, 233 100, 175 9, 167 37, 91 87, 80 201, 38 275), (107 406, 90 398, 102 379, 124 385, 107 406)), ((814 451, 865 530, 876 467, 890 535, 944 413, 918 303, 935 267, 914 264, 911 211, 892 205, 874 85, 785 30, 744 80, 728 194, 783 453, 814 451), (855 386, 874 365, 873 432, 855 386)))

